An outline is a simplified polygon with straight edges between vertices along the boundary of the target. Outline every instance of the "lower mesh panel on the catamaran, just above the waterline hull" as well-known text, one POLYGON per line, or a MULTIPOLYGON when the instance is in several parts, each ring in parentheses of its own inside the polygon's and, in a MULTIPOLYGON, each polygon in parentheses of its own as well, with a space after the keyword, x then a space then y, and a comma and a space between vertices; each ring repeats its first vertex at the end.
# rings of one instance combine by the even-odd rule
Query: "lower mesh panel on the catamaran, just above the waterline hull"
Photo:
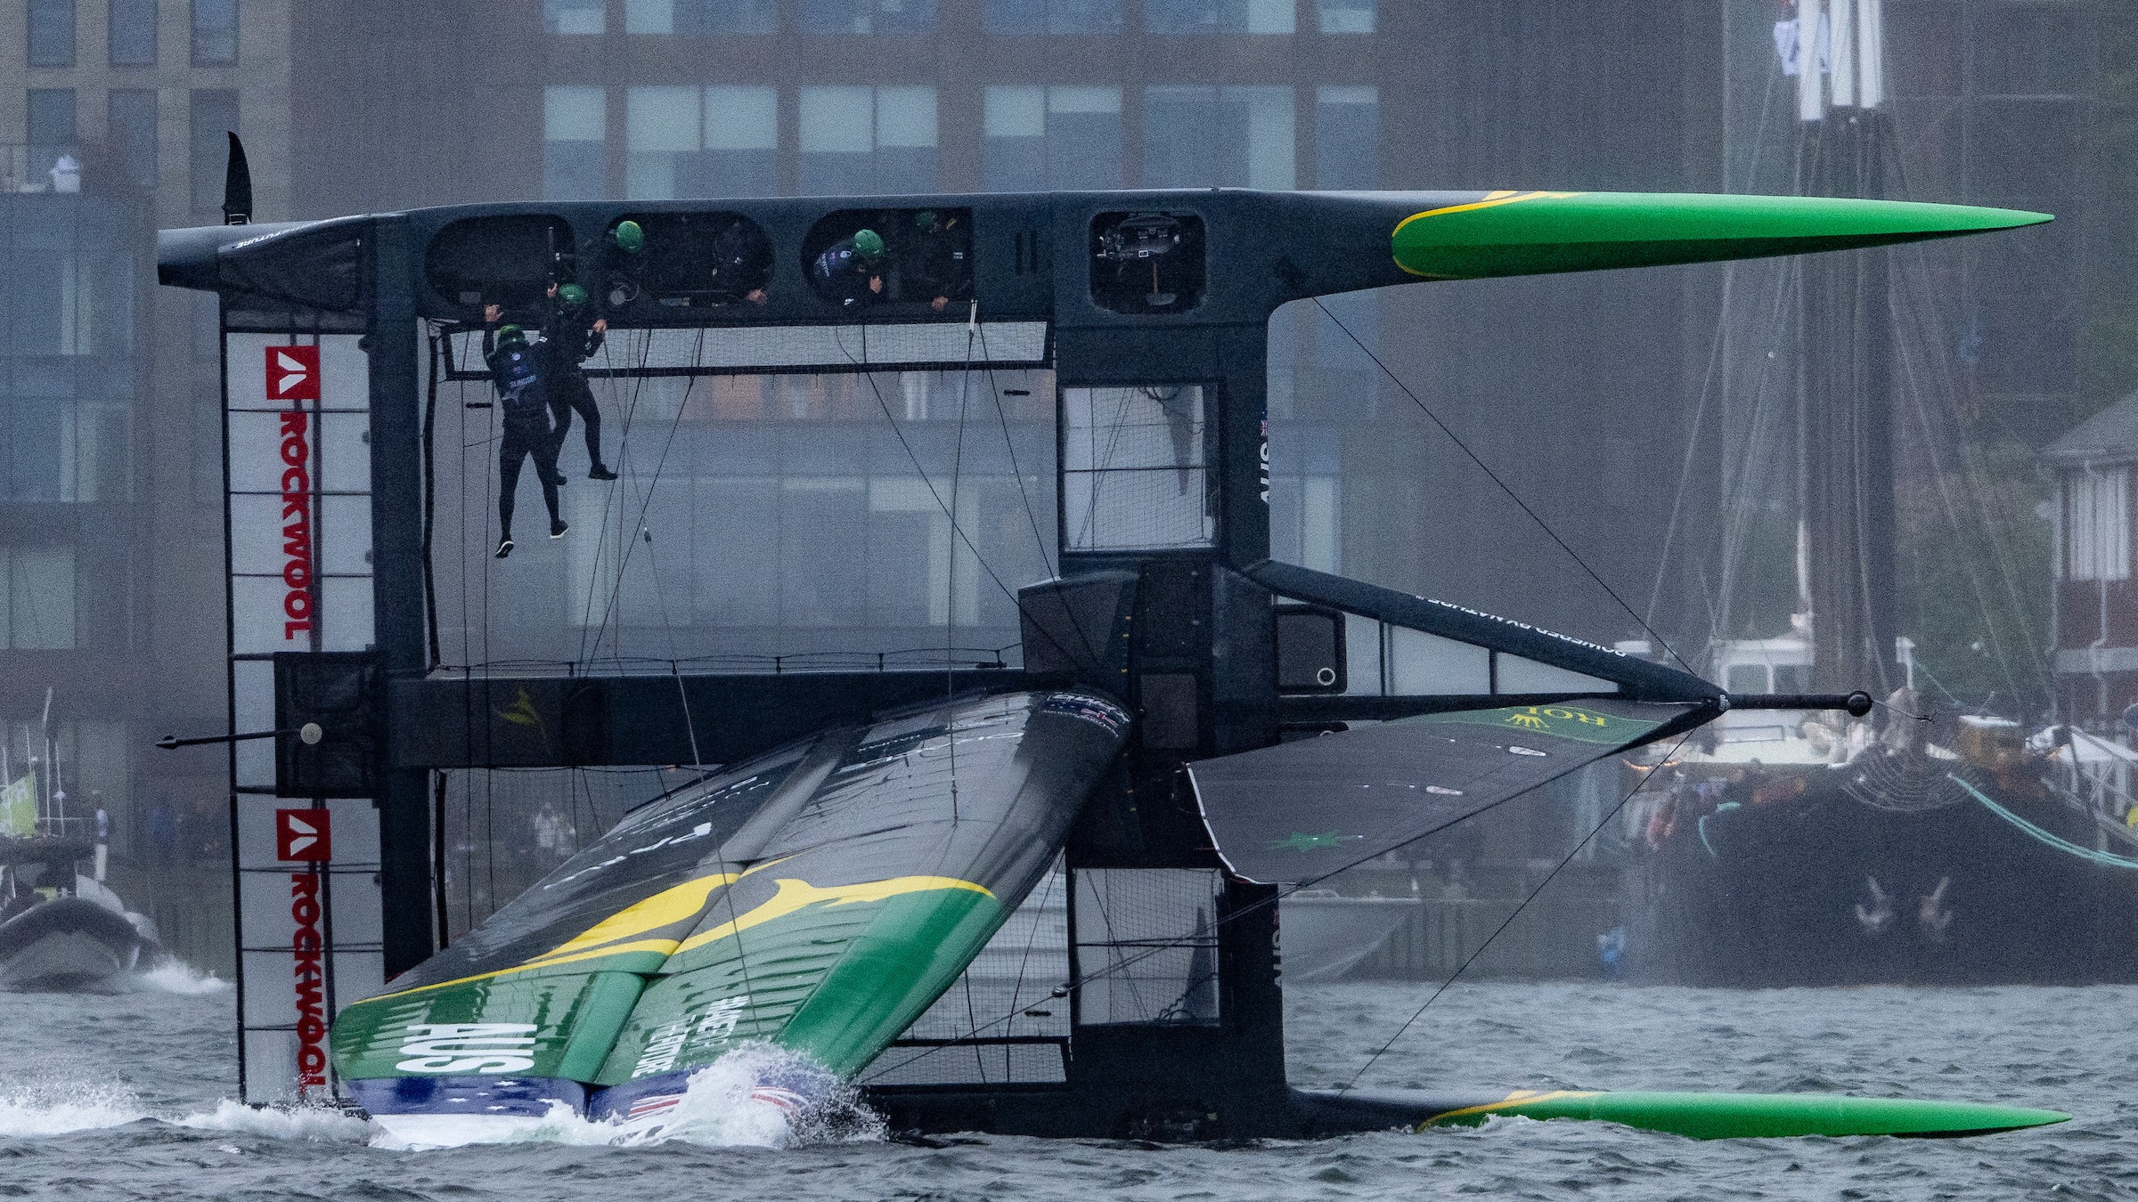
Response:
POLYGON ((1080 1020, 1214 1024, 1221 890, 1202 868, 1078 873, 1080 1020))

